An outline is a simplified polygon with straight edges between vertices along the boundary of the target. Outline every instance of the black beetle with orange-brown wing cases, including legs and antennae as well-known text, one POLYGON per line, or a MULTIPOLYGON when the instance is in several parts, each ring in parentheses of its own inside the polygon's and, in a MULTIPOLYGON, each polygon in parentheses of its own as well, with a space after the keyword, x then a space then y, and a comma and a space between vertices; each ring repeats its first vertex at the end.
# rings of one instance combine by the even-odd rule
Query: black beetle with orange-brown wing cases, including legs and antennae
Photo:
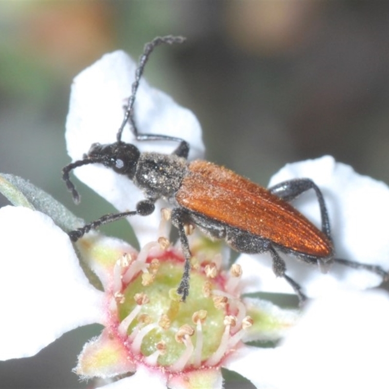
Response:
POLYGON ((180 36, 157 37, 144 47, 124 119, 117 133, 117 140, 110 144, 94 143, 84 159, 63 168, 63 179, 75 202, 79 195, 69 178, 72 169, 90 163, 101 163, 116 173, 128 177, 139 187, 145 199, 138 202, 135 211, 102 216, 84 227, 69 232, 73 242, 89 230, 124 218, 146 216, 155 209, 159 198, 172 204, 172 224, 177 227, 185 257, 184 271, 177 292, 185 301, 189 294, 191 251, 185 230, 195 225, 213 239, 224 239, 239 252, 269 252, 276 276, 283 277, 294 289, 300 302, 306 300, 301 286, 285 274, 285 262, 279 251, 293 254, 302 261, 326 269, 334 262, 362 268, 379 274, 384 279, 389 274, 380 266, 360 264, 335 258, 330 222, 323 195, 318 186, 308 178, 292 179, 265 189, 234 172, 204 160, 187 160, 189 144, 183 139, 161 134, 140 134, 134 120, 134 102, 152 51, 162 43, 182 43, 180 36), (122 141, 122 132, 129 123, 137 141, 173 141, 178 145, 172 154, 141 153, 138 148, 122 141), (321 230, 289 202, 303 192, 314 190, 321 214, 321 230))

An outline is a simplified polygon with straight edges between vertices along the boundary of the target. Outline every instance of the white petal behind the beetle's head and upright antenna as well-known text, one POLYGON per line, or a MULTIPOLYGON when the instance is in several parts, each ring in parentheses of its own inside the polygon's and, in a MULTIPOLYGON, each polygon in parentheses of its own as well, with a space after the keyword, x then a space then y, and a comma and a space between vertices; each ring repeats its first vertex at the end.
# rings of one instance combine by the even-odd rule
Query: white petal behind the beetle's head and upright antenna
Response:
MULTIPOLYGON (((73 161, 82 159, 92 143, 116 141, 117 130, 123 121, 123 106, 131 94, 135 69, 136 64, 130 57, 117 51, 104 55, 74 79, 66 123, 68 154, 73 161)), ((201 141, 201 127, 195 115, 178 106, 165 93, 149 87, 144 79, 138 89, 134 111, 140 133, 185 139, 191 145, 190 159, 202 157, 204 145, 201 141)), ((136 142, 128 125, 124 128, 123 141, 136 144, 141 151, 167 154, 177 147, 175 142, 136 142)), ((119 211, 134 210, 135 204, 144 198, 128 178, 101 165, 80 167, 75 170, 75 174, 119 211)), ((150 216, 129 218, 136 228, 141 246, 156 239, 159 208, 160 204, 150 216)))

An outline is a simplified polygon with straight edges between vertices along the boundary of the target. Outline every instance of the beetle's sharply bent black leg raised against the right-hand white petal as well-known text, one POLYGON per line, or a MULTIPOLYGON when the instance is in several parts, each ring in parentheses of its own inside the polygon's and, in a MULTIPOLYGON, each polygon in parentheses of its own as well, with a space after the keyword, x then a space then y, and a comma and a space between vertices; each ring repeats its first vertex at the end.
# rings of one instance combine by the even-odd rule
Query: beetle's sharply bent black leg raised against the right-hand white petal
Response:
POLYGON ((332 242, 330 220, 328 218, 327 207, 324 202, 323 195, 318 186, 310 178, 296 178, 288 181, 280 182, 268 188, 268 191, 282 198, 285 201, 292 201, 302 193, 313 189, 318 197, 321 215, 321 230, 327 235, 327 238, 332 242))

